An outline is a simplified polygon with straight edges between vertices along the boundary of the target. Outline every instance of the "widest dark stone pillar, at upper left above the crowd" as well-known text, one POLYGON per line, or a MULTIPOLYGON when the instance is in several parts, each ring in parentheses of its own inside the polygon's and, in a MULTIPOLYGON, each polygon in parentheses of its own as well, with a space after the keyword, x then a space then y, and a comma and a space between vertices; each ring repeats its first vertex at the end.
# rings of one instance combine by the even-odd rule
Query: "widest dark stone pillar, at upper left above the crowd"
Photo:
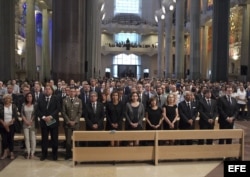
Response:
POLYGON ((55 80, 69 82, 84 77, 85 35, 89 35, 85 8, 86 1, 53 0, 51 68, 55 80))

